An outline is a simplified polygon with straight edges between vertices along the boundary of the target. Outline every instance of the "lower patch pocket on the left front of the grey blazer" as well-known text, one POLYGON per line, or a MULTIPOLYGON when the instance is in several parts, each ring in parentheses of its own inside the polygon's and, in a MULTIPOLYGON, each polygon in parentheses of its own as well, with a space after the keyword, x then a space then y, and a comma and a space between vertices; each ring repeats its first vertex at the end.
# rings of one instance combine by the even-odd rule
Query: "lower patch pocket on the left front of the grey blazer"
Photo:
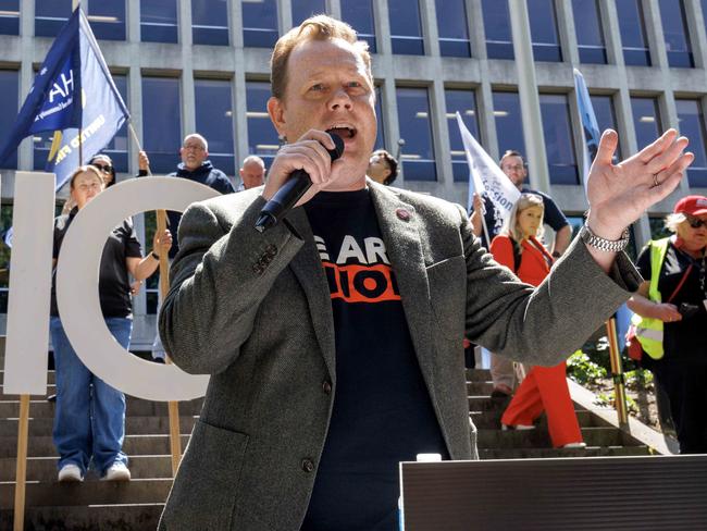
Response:
POLYGON ((245 433, 197 420, 164 509, 165 529, 231 529, 247 446, 245 433))

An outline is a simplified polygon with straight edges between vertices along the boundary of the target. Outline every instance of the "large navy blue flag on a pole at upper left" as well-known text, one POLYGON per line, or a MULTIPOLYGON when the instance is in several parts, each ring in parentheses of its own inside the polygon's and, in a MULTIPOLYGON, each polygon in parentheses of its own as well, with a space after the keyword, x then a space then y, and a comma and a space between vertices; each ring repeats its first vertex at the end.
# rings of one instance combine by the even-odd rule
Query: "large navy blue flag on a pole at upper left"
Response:
POLYGON ((35 77, 14 127, 0 147, 0 162, 25 137, 53 131, 46 170, 57 174, 59 189, 78 165, 113 139, 127 119, 129 113, 88 20, 77 8, 35 77))

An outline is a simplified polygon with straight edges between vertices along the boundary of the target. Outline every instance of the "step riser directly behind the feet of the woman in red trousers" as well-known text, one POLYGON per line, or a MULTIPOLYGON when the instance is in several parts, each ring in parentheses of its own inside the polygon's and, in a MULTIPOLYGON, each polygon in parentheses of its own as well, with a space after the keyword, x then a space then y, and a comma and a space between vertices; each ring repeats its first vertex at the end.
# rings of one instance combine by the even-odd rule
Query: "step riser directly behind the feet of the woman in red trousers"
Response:
MULTIPOLYGON (((618 428, 582 428, 587 446, 635 446, 618 428)), ((546 430, 500 431, 479 430, 479 448, 550 448, 546 430)))

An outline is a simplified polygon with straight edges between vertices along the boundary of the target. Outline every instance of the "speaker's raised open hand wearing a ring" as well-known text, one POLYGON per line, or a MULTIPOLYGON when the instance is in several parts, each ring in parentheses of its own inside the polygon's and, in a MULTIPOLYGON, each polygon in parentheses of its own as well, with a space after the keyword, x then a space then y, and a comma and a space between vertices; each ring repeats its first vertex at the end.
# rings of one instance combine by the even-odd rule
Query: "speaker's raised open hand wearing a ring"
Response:
POLYGON ((633 157, 612 164, 618 140, 616 131, 604 132, 587 183, 587 223, 607 239, 618 239, 648 207, 674 190, 695 158, 684 152, 687 138, 668 129, 633 157))

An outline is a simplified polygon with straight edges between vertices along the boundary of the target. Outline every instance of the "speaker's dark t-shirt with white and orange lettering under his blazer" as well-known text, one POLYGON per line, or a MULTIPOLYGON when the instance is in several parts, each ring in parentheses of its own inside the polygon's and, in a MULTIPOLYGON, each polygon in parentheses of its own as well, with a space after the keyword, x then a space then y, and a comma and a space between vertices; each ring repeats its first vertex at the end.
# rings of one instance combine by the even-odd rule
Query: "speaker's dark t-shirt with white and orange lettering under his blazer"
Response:
POLYGON ((448 453, 368 189, 305 206, 330 284, 336 393, 302 530, 397 530, 398 462, 448 453))

